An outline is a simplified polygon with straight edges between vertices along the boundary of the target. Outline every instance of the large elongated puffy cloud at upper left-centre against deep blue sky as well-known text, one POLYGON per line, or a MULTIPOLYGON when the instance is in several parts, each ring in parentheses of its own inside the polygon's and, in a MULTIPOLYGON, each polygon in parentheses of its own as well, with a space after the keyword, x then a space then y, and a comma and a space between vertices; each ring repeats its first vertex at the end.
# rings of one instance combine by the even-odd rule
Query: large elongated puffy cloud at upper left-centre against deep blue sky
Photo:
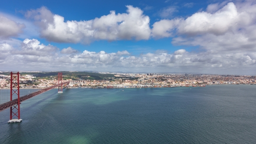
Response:
POLYGON ((149 39, 149 17, 138 7, 126 6, 127 13, 110 14, 88 21, 64 21, 63 16, 51 13, 46 7, 27 11, 41 28, 40 35, 59 43, 91 43, 95 40, 149 39))

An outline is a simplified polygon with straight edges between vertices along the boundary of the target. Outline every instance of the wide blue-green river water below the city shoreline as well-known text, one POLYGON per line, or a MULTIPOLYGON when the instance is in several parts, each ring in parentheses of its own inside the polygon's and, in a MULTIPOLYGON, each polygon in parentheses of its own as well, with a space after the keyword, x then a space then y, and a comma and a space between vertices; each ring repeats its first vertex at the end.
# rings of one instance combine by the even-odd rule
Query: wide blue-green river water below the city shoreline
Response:
POLYGON ((255 89, 53 89, 21 104, 21 123, 0 112, 0 144, 253 144, 255 89))

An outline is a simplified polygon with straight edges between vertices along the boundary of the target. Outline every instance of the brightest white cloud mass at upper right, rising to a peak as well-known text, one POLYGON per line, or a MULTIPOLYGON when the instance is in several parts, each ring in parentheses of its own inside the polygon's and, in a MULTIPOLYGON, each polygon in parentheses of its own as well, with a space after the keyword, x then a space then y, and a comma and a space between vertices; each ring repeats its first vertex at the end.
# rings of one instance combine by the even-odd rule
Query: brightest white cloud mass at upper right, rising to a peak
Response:
POLYGON ((179 33, 187 35, 200 35, 212 33, 222 35, 239 21, 234 3, 228 3, 214 14, 201 12, 188 17, 178 26, 179 33))

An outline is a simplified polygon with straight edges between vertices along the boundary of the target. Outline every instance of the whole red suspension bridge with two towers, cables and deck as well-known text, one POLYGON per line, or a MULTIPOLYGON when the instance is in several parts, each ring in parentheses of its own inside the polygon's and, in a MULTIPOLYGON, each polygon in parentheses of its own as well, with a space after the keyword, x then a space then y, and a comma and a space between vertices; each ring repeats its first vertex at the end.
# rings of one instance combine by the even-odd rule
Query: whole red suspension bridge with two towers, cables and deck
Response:
POLYGON ((59 72, 56 77, 55 85, 30 93, 28 90, 31 90, 31 88, 20 88, 20 83, 22 83, 20 78, 23 79, 23 81, 26 79, 23 77, 23 75, 20 74, 20 72, 11 72, 10 75, 6 76, 5 79, 0 82, 0 111, 10 108, 10 120, 8 123, 22 121, 22 119, 20 119, 20 104, 22 101, 33 98, 36 95, 40 95, 43 92, 47 92, 57 87, 58 93, 62 93, 63 85, 68 85, 70 83, 69 81, 62 82, 62 72, 59 72), (20 92, 20 90, 22 90, 22 92, 20 92))

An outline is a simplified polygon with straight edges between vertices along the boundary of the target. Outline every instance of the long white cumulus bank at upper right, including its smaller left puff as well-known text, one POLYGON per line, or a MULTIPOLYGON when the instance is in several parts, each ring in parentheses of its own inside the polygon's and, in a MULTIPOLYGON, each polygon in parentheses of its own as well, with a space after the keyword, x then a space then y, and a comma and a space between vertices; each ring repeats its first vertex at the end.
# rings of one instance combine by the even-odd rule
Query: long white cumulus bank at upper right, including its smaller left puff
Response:
POLYGON ((187 19, 161 20, 153 25, 153 36, 171 36, 171 32, 177 29, 178 34, 195 36, 202 34, 223 35, 233 29, 245 27, 250 23, 248 13, 239 13, 234 3, 228 3, 216 13, 200 12, 194 13, 187 19), (167 25, 167 26, 166 26, 167 25), (161 28, 164 27, 164 28, 161 28), (156 33, 155 29, 162 29, 161 33, 156 33), (169 33, 169 34, 168 34, 169 33))

